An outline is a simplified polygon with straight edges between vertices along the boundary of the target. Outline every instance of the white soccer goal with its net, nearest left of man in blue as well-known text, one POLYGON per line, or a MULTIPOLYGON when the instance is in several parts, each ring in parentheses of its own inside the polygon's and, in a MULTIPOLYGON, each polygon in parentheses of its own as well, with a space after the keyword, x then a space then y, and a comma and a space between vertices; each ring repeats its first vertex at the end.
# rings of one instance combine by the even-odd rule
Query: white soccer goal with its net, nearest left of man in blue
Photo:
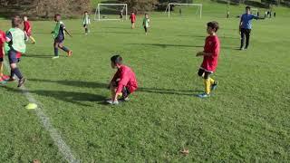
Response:
POLYGON ((169 3, 167 5, 165 13, 171 16, 198 16, 201 18, 202 16, 202 4, 177 4, 177 3, 169 3))

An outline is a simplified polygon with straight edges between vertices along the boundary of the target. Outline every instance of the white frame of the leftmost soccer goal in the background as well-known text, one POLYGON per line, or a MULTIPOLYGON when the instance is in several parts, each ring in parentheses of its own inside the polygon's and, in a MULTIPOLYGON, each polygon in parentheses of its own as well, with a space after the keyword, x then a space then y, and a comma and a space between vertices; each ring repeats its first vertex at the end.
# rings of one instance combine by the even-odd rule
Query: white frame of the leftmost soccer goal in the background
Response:
POLYGON ((115 6, 122 6, 123 8, 121 9, 121 11, 125 10, 124 14, 125 14, 125 20, 128 19, 128 5, 127 4, 98 4, 95 14, 94 14, 94 20, 95 21, 104 21, 104 20, 120 20, 120 18, 105 18, 103 19, 103 17, 101 16, 102 11, 101 11, 101 7, 102 6, 106 6, 106 7, 115 7, 115 6))

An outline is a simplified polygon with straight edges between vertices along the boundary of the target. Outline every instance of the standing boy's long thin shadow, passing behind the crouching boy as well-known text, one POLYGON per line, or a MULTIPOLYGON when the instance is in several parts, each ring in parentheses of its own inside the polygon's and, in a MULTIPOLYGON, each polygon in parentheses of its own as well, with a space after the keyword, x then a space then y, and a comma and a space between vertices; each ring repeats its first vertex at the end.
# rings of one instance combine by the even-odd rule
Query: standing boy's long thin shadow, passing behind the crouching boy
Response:
MULTIPOLYGON (((106 83, 100 82, 82 82, 82 81, 51 81, 51 80, 39 80, 39 79, 29 79, 33 82, 53 82, 62 85, 68 85, 73 87, 85 87, 85 88, 99 88, 99 89, 108 89, 106 83)), ((154 94, 170 94, 170 95, 188 95, 192 96, 193 92, 202 92, 200 90, 174 90, 174 89, 158 89, 158 88, 144 88, 140 87, 137 91, 148 92, 154 94)))

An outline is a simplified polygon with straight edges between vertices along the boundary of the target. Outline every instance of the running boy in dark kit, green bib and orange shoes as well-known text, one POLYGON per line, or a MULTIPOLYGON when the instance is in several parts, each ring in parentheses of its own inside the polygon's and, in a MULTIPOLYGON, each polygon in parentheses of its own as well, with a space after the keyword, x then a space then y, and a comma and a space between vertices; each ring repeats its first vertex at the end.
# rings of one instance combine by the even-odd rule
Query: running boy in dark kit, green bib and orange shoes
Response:
POLYGON ((54 57, 53 59, 59 58, 58 54, 58 48, 61 48, 64 52, 67 53, 67 56, 72 56, 73 52, 69 50, 68 48, 63 46, 63 41, 64 41, 64 32, 66 34, 69 34, 71 37, 72 35, 65 29, 65 26, 63 22, 61 22, 61 14, 55 14, 54 15, 54 21, 56 22, 54 31, 52 32, 53 34, 53 47, 54 47, 54 57))

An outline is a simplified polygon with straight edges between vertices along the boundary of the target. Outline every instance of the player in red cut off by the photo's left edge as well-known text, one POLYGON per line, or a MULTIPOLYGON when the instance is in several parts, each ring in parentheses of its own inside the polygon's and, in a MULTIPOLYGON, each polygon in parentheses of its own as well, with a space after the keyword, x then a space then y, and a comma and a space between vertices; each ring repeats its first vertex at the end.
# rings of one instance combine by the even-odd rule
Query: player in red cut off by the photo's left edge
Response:
POLYGON ((4 72, 4 57, 5 57, 5 42, 6 42, 6 35, 5 32, 0 30, 0 82, 4 82, 9 80, 9 76, 3 74, 4 72))

